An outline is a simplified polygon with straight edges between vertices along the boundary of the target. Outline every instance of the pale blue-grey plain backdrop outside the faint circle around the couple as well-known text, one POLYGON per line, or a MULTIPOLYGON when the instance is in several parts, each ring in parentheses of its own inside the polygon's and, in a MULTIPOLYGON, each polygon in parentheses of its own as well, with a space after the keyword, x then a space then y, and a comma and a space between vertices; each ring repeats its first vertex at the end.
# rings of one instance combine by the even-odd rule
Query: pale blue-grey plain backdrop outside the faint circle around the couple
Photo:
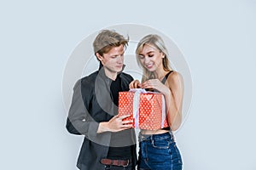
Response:
POLYGON ((176 133, 184 170, 254 170, 256 1, 1 1, 0 169, 75 170, 61 83, 85 37, 152 26, 189 64, 193 98, 176 133))

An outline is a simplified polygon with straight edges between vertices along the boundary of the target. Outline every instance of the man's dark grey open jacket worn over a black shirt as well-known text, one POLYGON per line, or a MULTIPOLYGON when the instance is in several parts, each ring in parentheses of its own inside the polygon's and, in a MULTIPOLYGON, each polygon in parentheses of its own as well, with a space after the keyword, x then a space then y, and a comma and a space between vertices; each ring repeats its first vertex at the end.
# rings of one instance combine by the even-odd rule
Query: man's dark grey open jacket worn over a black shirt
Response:
MULTIPOLYGON (((119 73, 119 77, 122 91, 128 91, 129 83, 133 78, 123 72, 119 73)), ((111 82, 103 69, 100 69, 80 79, 73 88, 73 99, 66 127, 69 133, 84 135, 77 163, 77 167, 81 170, 105 169, 100 160, 108 155, 111 133, 96 133, 96 131, 100 122, 108 122, 113 117, 114 107, 117 107, 111 99, 111 82)), ((127 129, 120 133, 124 133, 122 146, 132 147, 132 163, 135 167, 137 163, 135 131, 127 129)))

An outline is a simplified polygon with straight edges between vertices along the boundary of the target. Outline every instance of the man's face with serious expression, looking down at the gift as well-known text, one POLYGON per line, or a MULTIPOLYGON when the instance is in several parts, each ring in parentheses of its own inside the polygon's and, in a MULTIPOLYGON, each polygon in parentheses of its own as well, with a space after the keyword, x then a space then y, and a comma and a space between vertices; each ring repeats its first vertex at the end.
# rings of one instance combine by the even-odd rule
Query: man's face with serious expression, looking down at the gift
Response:
POLYGON ((106 74, 116 74, 122 71, 124 65, 124 47, 120 45, 119 47, 114 47, 102 55, 96 54, 97 58, 102 62, 105 68, 106 74))

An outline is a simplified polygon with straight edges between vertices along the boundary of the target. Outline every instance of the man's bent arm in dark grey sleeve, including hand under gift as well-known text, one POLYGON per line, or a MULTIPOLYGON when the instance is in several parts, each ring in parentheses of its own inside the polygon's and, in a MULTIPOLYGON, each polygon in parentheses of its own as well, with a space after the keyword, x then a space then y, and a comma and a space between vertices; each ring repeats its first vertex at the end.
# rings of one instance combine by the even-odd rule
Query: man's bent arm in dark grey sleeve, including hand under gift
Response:
POLYGON ((81 94, 81 82, 77 82, 73 88, 73 99, 67 117, 67 131, 73 134, 84 134, 89 138, 96 137, 96 133, 119 132, 131 128, 131 121, 123 121, 130 116, 113 116, 108 122, 96 122, 89 114, 87 108, 92 96, 89 88, 85 93, 88 99, 83 99, 81 94))

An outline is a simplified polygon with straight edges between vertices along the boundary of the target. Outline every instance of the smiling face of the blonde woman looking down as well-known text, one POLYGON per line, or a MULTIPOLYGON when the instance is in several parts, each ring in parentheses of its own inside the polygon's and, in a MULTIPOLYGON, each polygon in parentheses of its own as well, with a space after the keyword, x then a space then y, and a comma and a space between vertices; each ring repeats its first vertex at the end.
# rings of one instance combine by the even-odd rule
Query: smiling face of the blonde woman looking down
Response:
POLYGON ((153 45, 145 44, 141 53, 138 54, 138 59, 140 60, 143 67, 148 71, 158 71, 163 68, 162 59, 165 55, 160 52, 158 48, 153 45))

